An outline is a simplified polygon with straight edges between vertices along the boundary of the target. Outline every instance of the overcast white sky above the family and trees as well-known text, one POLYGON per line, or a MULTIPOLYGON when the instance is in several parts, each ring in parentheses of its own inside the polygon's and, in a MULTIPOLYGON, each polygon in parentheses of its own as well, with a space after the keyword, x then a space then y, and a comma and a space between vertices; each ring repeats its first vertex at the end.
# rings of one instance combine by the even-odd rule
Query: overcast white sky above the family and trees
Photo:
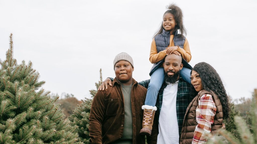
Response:
POLYGON ((14 58, 31 60, 52 93, 90 97, 99 80, 115 77, 113 59, 134 60, 133 78, 149 79, 152 36, 169 3, 183 11, 192 53, 189 64, 205 61, 221 76, 232 98, 257 88, 257 1, 3 1, 0 0, 0 58, 14 36, 14 58), (253 44, 253 45, 252 45, 253 44))

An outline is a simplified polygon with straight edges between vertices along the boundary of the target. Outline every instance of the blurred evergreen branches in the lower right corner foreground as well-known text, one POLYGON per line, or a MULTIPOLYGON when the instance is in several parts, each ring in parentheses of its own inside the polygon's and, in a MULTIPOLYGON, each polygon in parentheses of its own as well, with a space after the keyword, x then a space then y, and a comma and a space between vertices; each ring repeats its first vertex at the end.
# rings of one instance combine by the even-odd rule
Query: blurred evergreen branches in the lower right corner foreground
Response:
MULTIPOLYGON (((254 90, 253 95, 253 104, 251 107, 250 112, 246 113, 245 118, 241 118, 240 116, 235 116, 235 126, 236 129, 232 132, 226 130, 218 130, 217 135, 223 136, 227 140, 228 143, 232 144, 256 144, 257 143, 257 89, 254 90), (233 134, 232 134, 233 133, 233 134)), ((227 143, 224 139, 220 136, 213 136, 208 134, 207 137, 209 138, 209 144, 225 144, 227 143)))

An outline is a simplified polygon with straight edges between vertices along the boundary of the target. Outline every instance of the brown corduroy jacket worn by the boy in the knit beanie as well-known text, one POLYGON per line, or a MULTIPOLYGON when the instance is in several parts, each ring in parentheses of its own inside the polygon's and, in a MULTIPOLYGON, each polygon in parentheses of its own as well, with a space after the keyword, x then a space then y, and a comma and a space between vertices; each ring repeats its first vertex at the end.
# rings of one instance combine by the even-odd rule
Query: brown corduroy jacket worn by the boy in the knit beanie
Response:
MULTIPOLYGON (((113 143, 120 139, 124 129, 124 102, 121 84, 115 78, 112 87, 98 91, 89 115, 89 136, 92 144, 113 143)), ((143 110, 147 89, 133 79, 131 91, 133 144, 145 144, 142 129, 143 110)), ((154 125, 158 125, 157 121, 154 125)), ((148 144, 156 144, 158 126, 153 126, 152 135, 147 137, 148 144)))

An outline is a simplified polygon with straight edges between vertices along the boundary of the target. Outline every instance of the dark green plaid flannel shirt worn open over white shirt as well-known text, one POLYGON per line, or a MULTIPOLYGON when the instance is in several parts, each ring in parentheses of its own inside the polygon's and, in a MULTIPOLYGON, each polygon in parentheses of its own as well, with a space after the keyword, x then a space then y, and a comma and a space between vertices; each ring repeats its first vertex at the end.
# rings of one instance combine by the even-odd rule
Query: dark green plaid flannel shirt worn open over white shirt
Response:
MULTIPOLYGON (((142 85, 145 88, 148 88, 149 83, 150 83, 150 79, 141 81, 138 84, 142 85)), ((163 85, 157 95, 157 100, 156 100, 155 106, 157 107, 156 114, 158 114, 158 119, 159 119, 161 106, 162 106, 163 90, 166 87, 167 87, 167 84, 163 83, 163 85)), ((177 119, 178 119, 178 126, 179 126, 179 137, 181 134, 184 116, 185 116, 187 107, 190 102, 191 102, 190 101, 190 84, 185 82, 180 77, 179 81, 178 81, 178 91, 177 91, 177 101, 176 101, 177 119)))

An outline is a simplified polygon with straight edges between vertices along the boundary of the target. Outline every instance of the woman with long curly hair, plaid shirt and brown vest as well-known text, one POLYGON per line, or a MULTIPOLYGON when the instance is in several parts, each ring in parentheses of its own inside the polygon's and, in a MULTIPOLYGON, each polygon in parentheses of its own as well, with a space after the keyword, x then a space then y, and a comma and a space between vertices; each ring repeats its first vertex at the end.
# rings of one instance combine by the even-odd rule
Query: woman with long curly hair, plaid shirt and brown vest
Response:
POLYGON ((206 143, 204 133, 215 133, 229 117, 228 96, 216 70, 205 62, 192 69, 191 84, 193 97, 183 121, 180 143, 206 143))

